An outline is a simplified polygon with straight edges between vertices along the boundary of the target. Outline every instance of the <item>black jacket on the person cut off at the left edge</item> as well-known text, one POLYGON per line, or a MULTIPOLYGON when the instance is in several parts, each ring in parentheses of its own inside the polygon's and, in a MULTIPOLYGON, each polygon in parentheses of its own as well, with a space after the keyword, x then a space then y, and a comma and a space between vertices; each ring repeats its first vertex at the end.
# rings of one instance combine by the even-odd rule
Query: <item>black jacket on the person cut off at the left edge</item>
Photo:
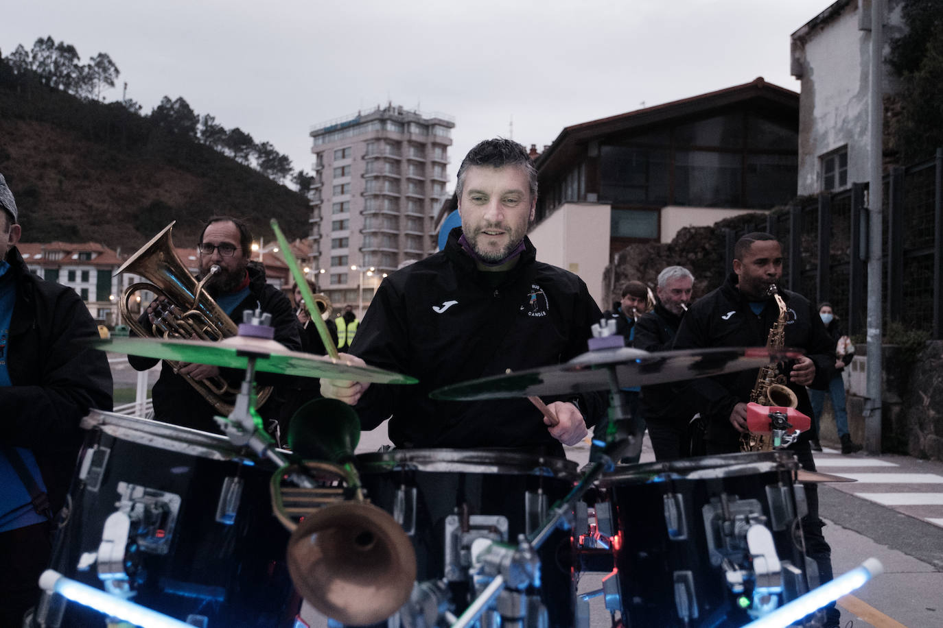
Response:
POLYGON ((0 281, 16 282, 7 360, 13 385, 0 387, 0 439, 32 450, 55 512, 82 444, 79 421, 91 408, 111 410, 111 369, 104 351, 80 344, 98 338, 98 328, 75 291, 30 273, 15 247, 7 262, 0 281))

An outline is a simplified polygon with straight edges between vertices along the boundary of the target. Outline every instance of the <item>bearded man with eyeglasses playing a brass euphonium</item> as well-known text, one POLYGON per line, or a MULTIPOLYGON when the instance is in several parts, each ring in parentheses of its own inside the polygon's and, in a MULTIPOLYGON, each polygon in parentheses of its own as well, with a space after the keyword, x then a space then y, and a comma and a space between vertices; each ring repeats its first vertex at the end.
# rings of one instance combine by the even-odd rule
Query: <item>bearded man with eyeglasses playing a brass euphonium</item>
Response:
MULTIPOLYGON (((252 233, 241 220, 233 217, 217 216, 207 220, 200 244, 197 245, 199 272, 197 279, 206 277, 210 268, 220 269, 204 284, 204 289, 214 298, 223 312, 236 323, 242 320, 244 310, 260 309, 272 314, 271 325, 275 328, 275 341, 293 351, 301 350, 301 339, 295 325, 294 309, 289 299, 281 290, 265 281, 265 267, 249 260, 252 246, 252 233)), ((147 306, 139 322, 148 326, 154 322, 157 308, 163 297, 158 297, 147 306)), ((147 370, 157 364, 153 358, 128 356, 128 362, 139 371, 147 370)), ((182 366, 176 373, 167 362, 163 363, 160 378, 154 384, 154 418, 158 421, 173 423, 178 426, 192 427, 207 432, 219 432, 213 417, 219 414, 181 375, 190 376, 197 381, 214 378, 218 375, 239 386, 241 373, 210 364, 190 363, 182 366)), ((277 384, 277 376, 257 374, 256 382, 260 385, 277 384)), ((277 417, 281 395, 277 387, 269 400, 259 409, 265 425, 279 441, 284 440, 284 427, 278 426, 277 417), (280 433, 281 432, 281 433, 280 433)))

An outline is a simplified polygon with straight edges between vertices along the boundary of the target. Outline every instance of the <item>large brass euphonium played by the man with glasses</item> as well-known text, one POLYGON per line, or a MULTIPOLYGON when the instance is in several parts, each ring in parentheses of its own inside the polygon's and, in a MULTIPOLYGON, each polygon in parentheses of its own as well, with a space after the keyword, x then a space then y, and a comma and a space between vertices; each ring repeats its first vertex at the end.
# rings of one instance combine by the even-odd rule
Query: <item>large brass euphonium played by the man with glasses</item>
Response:
MULTIPOLYGON (((164 227, 150 242, 145 244, 115 271, 115 276, 130 272, 141 275, 148 282, 129 285, 118 301, 118 310, 124 323, 141 337, 178 338, 181 340, 223 340, 239 333, 239 327, 223 312, 223 308, 204 290, 203 284, 217 270, 210 270, 201 282, 190 275, 187 266, 180 261, 174 242, 171 240, 171 228, 174 222, 164 227), (157 310, 157 323, 147 329, 138 322, 138 317, 130 312, 128 299, 139 290, 148 290, 167 301, 157 310)), ((181 362, 167 361, 174 371, 181 362)), ((196 381, 182 375, 197 393, 203 396, 217 411, 228 415, 233 409, 233 402, 239 393, 221 377, 196 381)), ((256 395, 256 407, 272 393, 272 388, 260 389, 256 395)))

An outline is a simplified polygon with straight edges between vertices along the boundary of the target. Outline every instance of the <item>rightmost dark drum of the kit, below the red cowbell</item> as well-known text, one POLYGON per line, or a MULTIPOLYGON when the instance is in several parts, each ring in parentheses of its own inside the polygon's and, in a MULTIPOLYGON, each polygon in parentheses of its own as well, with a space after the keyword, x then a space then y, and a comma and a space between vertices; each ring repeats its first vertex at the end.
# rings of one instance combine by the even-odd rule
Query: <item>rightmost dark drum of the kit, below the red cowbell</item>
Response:
POLYGON ((631 625, 740 626, 751 612, 771 610, 761 604, 782 605, 807 591, 797 468, 788 452, 769 451, 604 475, 597 518, 613 517, 620 610, 631 625), (748 536, 753 525, 769 532, 748 536))

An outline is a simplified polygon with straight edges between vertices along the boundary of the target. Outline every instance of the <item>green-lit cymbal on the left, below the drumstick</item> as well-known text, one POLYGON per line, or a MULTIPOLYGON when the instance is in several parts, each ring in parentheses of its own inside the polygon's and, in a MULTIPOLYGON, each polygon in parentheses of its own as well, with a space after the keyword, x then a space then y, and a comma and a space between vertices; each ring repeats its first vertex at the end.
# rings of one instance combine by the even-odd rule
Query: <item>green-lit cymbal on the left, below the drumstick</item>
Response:
POLYGON ((240 369, 246 368, 249 356, 254 356, 256 371, 304 378, 350 379, 374 384, 414 384, 417 381, 416 378, 373 366, 352 366, 327 356, 290 351, 273 340, 247 336, 230 336, 219 342, 112 337, 110 340, 93 341, 92 345, 103 351, 144 358, 240 369))

